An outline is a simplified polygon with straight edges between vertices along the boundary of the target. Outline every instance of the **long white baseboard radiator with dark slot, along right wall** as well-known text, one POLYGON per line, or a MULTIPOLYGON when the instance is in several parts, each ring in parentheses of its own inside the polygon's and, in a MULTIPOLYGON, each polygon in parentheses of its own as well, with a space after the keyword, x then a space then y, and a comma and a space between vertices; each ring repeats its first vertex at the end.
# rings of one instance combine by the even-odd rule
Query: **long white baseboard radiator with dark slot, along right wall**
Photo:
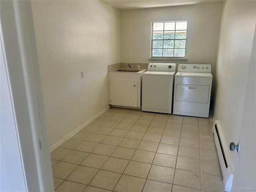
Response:
POLYGON ((226 141, 224 140, 222 129, 220 127, 218 120, 216 120, 216 122, 214 123, 214 126, 212 127, 212 132, 214 134, 214 142, 216 145, 218 158, 220 161, 220 168, 223 176, 225 191, 230 192, 234 170, 230 161, 230 157, 228 155, 229 148, 227 148, 227 146, 229 145, 227 145, 226 141))

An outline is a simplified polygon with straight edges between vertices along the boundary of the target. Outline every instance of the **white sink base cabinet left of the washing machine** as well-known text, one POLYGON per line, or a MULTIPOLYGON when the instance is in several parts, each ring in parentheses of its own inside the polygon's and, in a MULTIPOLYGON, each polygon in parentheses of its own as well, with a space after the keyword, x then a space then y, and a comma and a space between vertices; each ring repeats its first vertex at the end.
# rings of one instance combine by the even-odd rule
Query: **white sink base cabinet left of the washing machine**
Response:
POLYGON ((108 72, 109 104, 141 107, 141 73, 108 72))

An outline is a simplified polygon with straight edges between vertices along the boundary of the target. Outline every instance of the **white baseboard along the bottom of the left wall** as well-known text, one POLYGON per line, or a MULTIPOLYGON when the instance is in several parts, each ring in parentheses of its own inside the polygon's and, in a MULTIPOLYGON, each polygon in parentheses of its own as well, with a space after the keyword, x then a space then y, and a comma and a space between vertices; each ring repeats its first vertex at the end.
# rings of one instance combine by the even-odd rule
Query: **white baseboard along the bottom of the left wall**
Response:
POLYGON ((65 136, 64 138, 62 138, 60 141, 58 141, 56 144, 50 146, 50 152, 54 149, 56 149, 60 144, 62 144, 63 142, 65 142, 66 140, 68 140, 70 137, 72 137, 74 134, 76 134, 78 131, 80 131, 82 128, 84 128, 84 126, 88 125, 90 122, 92 122, 93 120, 95 120, 98 116, 100 116, 101 114, 103 114, 104 112, 106 112, 108 109, 110 108, 110 106, 108 106, 107 108, 105 108, 104 110, 102 110, 101 112, 99 112, 98 114, 96 114, 95 116, 93 116, 92 118, 90 118, 88 121, 86 121, 85 123, 83 123, 82 125, 80 125, 78 128, 76 128, 74 131, 72 131, 70 134, 68 134, 67 136, 65 136))

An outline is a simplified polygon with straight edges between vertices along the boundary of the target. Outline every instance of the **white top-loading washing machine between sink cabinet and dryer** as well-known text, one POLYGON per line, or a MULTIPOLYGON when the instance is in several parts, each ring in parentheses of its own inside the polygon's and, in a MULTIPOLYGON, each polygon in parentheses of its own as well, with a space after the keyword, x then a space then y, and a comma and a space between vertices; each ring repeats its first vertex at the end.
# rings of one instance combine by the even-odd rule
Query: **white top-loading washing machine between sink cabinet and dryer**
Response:
POLYGON ((142 111, 172 113, 175 63, 149 63, 142 74, 142 111))

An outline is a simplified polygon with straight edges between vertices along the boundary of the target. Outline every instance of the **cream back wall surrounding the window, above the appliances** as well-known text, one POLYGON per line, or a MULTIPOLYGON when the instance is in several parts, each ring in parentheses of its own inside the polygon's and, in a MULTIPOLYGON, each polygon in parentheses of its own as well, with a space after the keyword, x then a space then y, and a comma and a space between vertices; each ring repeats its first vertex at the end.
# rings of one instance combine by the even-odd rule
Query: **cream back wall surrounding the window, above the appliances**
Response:
POLYGON ((222 3, 121 11, 121 62, 211 64, 215 74, 222 3), (151 22, 188 20, 187 61, 151 61, 151 22))

